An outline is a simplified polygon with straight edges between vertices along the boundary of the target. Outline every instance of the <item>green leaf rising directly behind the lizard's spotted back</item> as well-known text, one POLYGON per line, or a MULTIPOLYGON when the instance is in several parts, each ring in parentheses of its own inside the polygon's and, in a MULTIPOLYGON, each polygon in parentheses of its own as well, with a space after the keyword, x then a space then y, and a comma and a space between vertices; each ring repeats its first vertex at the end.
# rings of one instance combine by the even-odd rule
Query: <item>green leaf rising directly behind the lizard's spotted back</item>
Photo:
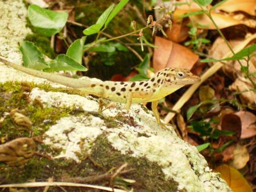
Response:
POLYGON ((139 64, 138 68, 136 68, 136 70, 139 72, 139 74, 131 77, 129 81, 143 81, 143 80, 149 79, 147 77, 147 70, 150 69, 151 56, 152 56, 151 53, 147 53, 147 55, 144 57, 143 61, 139 64))

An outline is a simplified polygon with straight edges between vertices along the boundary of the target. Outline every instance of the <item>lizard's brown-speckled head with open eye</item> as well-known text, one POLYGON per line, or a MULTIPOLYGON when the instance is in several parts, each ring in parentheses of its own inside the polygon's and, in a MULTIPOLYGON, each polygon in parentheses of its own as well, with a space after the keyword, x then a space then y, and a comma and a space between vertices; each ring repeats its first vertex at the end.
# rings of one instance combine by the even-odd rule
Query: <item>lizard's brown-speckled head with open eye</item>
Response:
POLYGON ((166 68, 160 70, 156 77, 162 79, 163 86, 184 86, 195 84, 200 81, 200 77, 191 73, 188 69, 166 68))

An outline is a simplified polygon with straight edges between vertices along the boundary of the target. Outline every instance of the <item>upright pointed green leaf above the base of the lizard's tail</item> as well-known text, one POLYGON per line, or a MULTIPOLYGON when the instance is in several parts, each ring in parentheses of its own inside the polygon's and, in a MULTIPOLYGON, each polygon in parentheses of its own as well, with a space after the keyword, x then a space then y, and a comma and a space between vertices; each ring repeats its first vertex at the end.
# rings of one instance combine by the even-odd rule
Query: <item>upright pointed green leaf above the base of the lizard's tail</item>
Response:
POLYGON ((86 36, 82 37, 81 39, 75 40, 68 48, 66 53, 67 56, 71 57, 73 60, 82 64, 82 47, 84 46, 86 36))

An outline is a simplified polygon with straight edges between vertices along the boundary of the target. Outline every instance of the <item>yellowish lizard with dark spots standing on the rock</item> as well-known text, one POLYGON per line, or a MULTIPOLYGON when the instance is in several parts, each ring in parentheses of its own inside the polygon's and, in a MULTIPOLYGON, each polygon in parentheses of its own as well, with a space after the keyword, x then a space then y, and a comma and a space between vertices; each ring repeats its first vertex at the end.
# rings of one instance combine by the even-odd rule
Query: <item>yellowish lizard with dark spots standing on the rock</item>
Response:
POLYGON ((159 70, 155 73, 154 77, 151 77, 147 81, 95 81, 89 77, 80 80, 26 68, 1 57, 0 61, 21 72, 80 90, 85 94, 96 95, 97 97, 109 99, 114 102, 126 103, 127 111, 129 111, 131 103, 152 102, 152 112, 158 124, 161 124, 157 110, 158 101, 185 85, 195 84, 200 81, 200 77, 191 73, 188 69, 177 68, 159 70))

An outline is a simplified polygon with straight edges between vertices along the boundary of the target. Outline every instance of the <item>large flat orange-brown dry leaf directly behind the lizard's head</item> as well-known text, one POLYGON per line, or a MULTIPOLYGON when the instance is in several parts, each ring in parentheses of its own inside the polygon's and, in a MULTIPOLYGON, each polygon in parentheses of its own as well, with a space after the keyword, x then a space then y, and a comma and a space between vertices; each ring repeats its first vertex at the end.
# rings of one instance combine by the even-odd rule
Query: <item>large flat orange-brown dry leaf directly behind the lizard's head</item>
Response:
POLYGON ((191 69, 199 56, 183 45, 174 43, 162 37, 155 37, 153 66, 155 72, 166 67, 191 69))

